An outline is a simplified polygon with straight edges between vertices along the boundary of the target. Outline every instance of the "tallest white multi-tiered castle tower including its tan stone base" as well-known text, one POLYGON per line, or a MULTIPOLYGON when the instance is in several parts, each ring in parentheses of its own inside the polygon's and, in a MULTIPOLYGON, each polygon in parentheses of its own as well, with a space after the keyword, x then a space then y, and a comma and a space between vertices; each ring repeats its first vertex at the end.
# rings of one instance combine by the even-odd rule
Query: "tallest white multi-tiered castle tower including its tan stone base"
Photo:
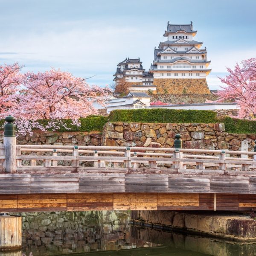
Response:
POLYGON ((167 25, 158 49, 154 49, 154 62, 149 73, 153 73, 154 85, 159 93, 210 93, 206 76, 210 61, 207 51, 200 49, 202 42, 193 40, 197 31, 193 24, 167 25))

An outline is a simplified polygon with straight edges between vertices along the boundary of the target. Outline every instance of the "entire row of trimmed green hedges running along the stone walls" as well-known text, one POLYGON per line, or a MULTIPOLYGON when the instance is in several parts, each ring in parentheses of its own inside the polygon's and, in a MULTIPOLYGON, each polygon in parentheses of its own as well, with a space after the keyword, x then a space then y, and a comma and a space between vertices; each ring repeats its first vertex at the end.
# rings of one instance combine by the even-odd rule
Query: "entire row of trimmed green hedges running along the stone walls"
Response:
MULTIPOLYGON (((51 120, 43 119, 38 122, 44 127, 51 120)), ((72 125, 70 119, 63 119, 63 125, 56 130, 63 131, 102 131, 106 122, 158 122, 158 123, 215 123, 224 122, 228 133, 238 134, 256 134, 256 121, 241 120, 231 117, 218 119, 217 113, 207 110, 175 110, 175 109, 133 109, 133 110, 114 110, 111 111, 108 117, 106 116, 87 116, 81 118, 81 126, 72 125)), ((4 119, 0 120, 0 127, 3 127, 4 119)))

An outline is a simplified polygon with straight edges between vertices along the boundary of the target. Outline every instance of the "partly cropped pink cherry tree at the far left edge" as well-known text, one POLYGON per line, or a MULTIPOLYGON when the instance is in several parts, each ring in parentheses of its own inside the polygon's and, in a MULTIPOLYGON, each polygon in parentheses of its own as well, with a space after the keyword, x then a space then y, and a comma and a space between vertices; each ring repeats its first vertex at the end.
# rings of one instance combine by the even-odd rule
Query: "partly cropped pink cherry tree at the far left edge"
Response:
POLYGON ((0 117, 6 116, 10 108, 16 108, 17 102, 12 97, 20 89, 23 76, 17 62, 12 65, 0 65, 0 117))

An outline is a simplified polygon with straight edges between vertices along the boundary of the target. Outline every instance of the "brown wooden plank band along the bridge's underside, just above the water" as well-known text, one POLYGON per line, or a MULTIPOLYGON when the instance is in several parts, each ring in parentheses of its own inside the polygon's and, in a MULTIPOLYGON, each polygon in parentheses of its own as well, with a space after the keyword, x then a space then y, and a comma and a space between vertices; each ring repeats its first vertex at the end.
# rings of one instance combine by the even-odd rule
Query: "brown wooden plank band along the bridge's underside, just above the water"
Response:
MULTIPOLYGON (((213 210, 206 193, 61 193, 0 195, 0 212, 90 210, 213 210)), ((256 209, 256 196, 216 194, 216 210, 256 209)))

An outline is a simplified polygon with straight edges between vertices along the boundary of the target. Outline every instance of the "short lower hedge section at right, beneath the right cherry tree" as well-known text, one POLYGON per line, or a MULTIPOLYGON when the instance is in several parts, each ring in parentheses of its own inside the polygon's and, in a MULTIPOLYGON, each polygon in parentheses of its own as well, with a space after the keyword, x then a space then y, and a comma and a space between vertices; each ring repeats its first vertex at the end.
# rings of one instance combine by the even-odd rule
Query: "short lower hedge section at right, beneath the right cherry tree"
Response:
POLYGON ((226 116, 221 120, 225 123, 225 129, 228 133, 250 134, 256 133, 256 121, 236 119, 226 116))

